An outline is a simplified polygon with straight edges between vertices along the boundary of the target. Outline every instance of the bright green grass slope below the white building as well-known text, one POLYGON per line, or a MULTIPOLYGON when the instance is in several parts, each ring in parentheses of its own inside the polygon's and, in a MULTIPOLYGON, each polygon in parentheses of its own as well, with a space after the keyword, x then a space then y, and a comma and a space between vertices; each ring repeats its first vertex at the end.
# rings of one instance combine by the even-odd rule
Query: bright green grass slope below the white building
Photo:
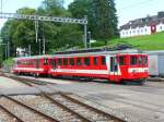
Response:
MULTIPOLYGON (((99 44, 99 41, 97 42, 99 44)), ((102 44, 104 44, 104 41, 102 44)), ((147 36, 116 38, 116 39, 108 40, 107 42, 109 47, 119 44, 128 44, 141 50, 164 50, 164 32, 154 35, 147 35, 147 36)))

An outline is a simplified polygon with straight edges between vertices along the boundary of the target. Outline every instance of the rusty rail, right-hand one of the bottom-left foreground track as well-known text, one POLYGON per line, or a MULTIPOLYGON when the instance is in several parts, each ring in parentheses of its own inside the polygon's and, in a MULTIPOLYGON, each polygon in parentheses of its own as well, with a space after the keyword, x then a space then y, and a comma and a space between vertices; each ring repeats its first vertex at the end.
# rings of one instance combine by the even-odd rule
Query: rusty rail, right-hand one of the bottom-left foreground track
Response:
POLYGON ((49 121, 51 121, 51 122, 59 122, 58 120, 56 120, 56 119, 54 119, 54 118, 51 118, 51 117, 49 117, 49 115, 47 115, 47 114, 45 114, 45 113, 43 113, 43 112, 36 110, 36 109, 34 109, 34 108, 32 108, 32 107, 28 106, 28 105, 25 105, 25 103, 23 103, 23 102, 16 100, 16 99, 13 99, 12 97, 9 97, 9 96, 5 96, 5 95, 3 95, 3 97, 5 97, 7 99, 9 99, 9 100, 11 100, 11 101, 13 101, 13 102, 15 102, 15 103, 17 103, 17 105, 21 105, 22 107, 25 107, 26 109, 28 109, 28 110, 31 110, 31 111, 34 111, 35 113, 37 113, 37 114, 39 114, 39 115, 46 118, 47 120, 49 120, 49 121))

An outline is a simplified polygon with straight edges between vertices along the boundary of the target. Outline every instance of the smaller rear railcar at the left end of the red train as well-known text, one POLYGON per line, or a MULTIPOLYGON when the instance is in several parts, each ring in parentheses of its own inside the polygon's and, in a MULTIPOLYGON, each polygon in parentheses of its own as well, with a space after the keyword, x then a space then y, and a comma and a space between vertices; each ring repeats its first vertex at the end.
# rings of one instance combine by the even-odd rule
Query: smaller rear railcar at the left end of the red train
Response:
POLYGON ((47 75, 50 56, 36 56, 15 58, 13 65, 14 74, 32 74, 34 76, 47 75))

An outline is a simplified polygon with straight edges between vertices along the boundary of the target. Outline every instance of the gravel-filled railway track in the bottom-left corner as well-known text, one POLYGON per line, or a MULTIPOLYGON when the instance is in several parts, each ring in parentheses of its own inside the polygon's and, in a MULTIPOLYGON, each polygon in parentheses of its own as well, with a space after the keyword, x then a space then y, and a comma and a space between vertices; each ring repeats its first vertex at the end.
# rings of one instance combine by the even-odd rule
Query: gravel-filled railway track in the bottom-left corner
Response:
POLYGON ((59 122, 58 120, 21 102, 12 97, 3 95, 0 100, 1 108, 19 122, 59 122))

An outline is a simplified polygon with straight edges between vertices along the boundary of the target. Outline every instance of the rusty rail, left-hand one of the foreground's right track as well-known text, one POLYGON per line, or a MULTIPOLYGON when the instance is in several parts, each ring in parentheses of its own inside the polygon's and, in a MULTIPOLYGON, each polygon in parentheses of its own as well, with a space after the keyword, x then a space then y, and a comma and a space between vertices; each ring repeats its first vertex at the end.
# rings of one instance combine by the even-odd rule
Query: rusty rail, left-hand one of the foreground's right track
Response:
POLYGON ((57 101, 56 99, 54 99, 51 96, 47 95, 46 93, 43 93, 44 97, 46 97, 47 99, 49 99, 52 103, 58 105, 59 107, 61 107, 62 109, 67 110, 68 112, 77 115, 80 120, 82 120, 82 122, 92 122, 91 120, 89 120, 87 118, 84 118, 83 115, 79 114, 78 112, 71 110, 70 108, 63 106, 62 103, 60 103, 59 101, 57 101))

